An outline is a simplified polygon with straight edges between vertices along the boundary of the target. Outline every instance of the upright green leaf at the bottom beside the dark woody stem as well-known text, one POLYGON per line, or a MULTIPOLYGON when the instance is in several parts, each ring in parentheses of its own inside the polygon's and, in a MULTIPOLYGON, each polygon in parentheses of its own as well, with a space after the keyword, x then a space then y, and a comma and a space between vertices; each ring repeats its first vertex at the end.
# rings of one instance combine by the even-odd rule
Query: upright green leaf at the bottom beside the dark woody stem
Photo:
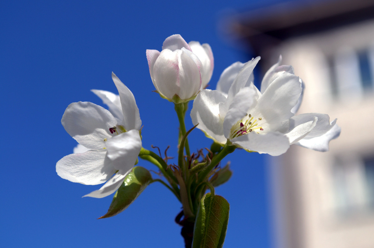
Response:
POLYGON ((192 248, 223 247, 230 204, 219 195, 206 193, 200 201, 193 229, 192 248))

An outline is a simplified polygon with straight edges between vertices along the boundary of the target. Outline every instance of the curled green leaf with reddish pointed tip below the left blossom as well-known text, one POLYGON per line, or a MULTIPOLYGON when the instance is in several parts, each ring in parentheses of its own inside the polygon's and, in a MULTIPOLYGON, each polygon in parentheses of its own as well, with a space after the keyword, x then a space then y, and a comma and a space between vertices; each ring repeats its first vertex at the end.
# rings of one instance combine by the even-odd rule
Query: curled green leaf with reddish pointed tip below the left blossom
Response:
POLYGON ((122 185, 113 196, 108 213, 99 219, 115 216, 125 210, 141 192, 150 184, 152 176, 149 171, 143 167, 135 166, 125 177, 122 185))

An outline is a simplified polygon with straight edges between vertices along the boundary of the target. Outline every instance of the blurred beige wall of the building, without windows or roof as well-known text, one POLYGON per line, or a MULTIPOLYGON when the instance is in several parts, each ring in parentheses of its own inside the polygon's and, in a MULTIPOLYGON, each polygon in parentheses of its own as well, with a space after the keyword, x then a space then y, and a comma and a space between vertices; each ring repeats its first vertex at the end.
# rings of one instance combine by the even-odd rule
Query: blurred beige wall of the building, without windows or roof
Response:
POLYGON ((294 66, 295 74, 306 84, 299 113, 329 114, 330 121, 338 118, 342 130, 340 137, 331 141, 329 152, 292 146, 285 155, 273 159, 273 192, 280 194, 274 208, 278 247, 374 247, 374 211, 367 207, 360 160, 374 156, 374 93, 355 86, 359 82, 354 70, 341 69, 339 75, 346 85, 332 97, 328 60, 341 61, 340 68, 350 70, 355 67, 351 59, 355 51, 368 47, 374 50, 374 21, 288 40, 274 51, 282 54, 283 64, 294 66), (339 189, 333 176, 336 158, 343 161, 338 169, 343 166, 347 194, 355 203, 349 215, 337 211, 341 206, 336 201, 339 189))

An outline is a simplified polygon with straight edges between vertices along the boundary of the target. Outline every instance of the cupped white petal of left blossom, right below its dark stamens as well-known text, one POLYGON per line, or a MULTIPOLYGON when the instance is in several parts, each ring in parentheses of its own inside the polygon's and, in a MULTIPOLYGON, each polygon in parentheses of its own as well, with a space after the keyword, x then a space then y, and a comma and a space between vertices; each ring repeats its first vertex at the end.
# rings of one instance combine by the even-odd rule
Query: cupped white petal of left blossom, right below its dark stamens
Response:
POLYGON ((111 160, 120 159, 120 167, 117 170, 129 170, 135 164, 142 147, 138 130, 130 130, 108 139, 107 156, 111 160))

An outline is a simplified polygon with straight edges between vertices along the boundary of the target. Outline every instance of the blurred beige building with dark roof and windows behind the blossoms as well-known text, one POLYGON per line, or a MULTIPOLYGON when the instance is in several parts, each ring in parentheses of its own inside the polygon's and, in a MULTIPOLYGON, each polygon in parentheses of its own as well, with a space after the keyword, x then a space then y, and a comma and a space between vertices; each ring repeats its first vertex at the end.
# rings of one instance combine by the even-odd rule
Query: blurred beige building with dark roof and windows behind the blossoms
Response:
POLYGON ((273 159, 275 247, 374 247, 374 1, 284 3, 230 17, 228 37, 283 56, 306 83, 300 113, 338 118, 329 152, 298 146, 273 159))

